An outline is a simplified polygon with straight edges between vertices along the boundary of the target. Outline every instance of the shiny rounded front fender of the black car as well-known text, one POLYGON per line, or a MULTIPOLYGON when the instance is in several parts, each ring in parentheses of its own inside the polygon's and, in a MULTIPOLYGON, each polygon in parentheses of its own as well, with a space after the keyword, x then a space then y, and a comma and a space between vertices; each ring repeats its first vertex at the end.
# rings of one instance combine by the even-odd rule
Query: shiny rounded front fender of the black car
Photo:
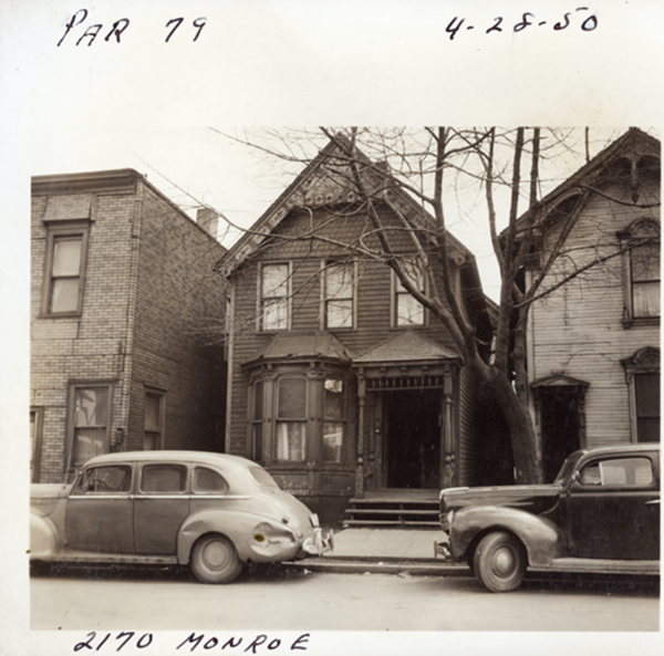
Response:
POLYGON ((465 508, 456 513, 450 532, 453 555, 464 558, 468 548, 494 530, 513 533, 526 546, 530 565, 546 565, 564 555, 562 531, 552 521, 500 506, 465 508))

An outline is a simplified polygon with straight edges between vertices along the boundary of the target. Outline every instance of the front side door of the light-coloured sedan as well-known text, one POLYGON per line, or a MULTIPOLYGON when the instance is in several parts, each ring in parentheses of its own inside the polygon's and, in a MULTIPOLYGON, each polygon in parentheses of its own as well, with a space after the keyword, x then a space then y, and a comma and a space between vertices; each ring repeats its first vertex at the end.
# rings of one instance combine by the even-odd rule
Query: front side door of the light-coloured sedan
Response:
POLYGON ((84 469, 66 504, 66 545, 98 553, 134 552, 131 465, 84 469))

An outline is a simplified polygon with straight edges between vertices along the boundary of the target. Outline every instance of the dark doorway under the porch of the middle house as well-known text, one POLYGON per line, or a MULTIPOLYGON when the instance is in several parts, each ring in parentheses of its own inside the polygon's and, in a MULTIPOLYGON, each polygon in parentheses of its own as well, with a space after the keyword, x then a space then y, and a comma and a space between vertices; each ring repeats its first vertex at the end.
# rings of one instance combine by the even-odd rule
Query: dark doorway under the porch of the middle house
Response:
POLYGON ((440 389, 384 393, 388 488, 440 487, 440 389))

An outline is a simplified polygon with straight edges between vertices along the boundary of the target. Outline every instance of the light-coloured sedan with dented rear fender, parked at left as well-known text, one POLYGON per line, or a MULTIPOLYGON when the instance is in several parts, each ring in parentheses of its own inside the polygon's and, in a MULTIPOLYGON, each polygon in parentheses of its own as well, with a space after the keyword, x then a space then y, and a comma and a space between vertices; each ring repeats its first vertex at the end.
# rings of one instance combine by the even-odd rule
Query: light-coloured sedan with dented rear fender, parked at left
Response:
POLYGON ((262 467, 200 451, 108 454, 71 485, 34 483, 30 528, 31 562, 188 563, 204 583, 332 548, 262 467))

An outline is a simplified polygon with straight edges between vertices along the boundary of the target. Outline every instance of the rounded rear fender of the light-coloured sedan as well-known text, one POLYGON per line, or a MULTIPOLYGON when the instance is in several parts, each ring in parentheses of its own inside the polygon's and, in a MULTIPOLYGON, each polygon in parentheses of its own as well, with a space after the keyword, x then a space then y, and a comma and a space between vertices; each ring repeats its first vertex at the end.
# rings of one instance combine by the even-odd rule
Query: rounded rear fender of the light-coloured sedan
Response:
MULTIPOLYGON (((205 533, 222 533, 232 541, 240 560, 251 560, 255 555, 251 549, 253 530, 258 524, 266 522, 279 525, 279 522, 269 517, 247 511, 208 509, 193 513, 183 522, 178 532, 177 562, 189 562, 194 543, 205 533)), ((292 532, 286 525, 280 528, 292 532)))

